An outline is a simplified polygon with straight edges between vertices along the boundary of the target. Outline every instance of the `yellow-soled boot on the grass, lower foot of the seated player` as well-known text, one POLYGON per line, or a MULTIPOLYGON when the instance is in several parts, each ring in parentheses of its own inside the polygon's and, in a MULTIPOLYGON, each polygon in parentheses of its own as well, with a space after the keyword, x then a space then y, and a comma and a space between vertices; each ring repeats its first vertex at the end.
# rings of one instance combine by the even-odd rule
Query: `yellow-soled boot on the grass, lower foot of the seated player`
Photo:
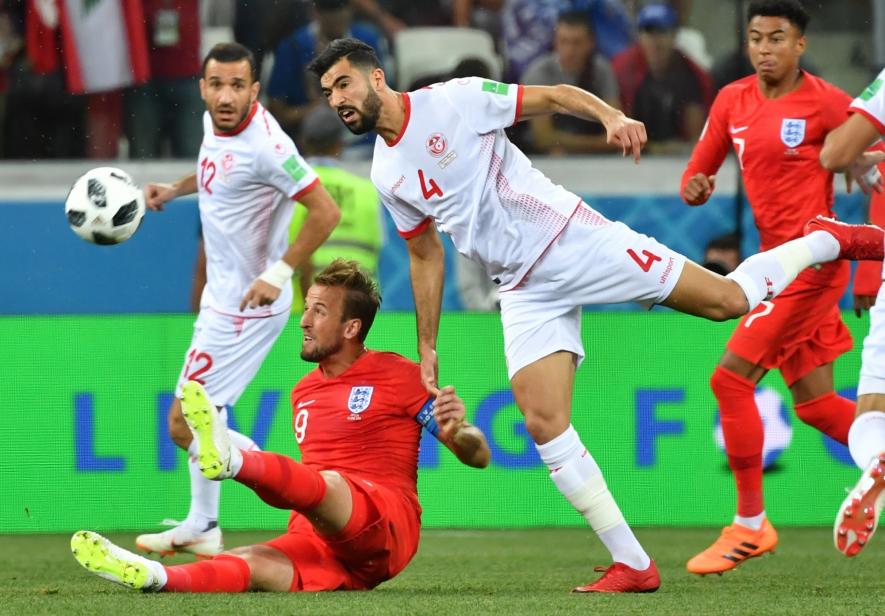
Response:
POLYGON ((163 565, 114 545, 98 533, 80 530, 71 537, 71 553, 90 573, 136 590, 160 590, 163 565))

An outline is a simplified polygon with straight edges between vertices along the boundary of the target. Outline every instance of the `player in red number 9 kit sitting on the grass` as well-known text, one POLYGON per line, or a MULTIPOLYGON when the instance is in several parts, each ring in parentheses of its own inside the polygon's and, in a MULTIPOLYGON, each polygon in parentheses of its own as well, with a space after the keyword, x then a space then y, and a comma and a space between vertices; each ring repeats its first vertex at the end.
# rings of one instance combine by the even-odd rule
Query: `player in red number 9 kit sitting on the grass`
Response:
POLYGON ((402 571, 420 535, 422 427, 464 464, 484 467, 490 451, 464 421, 453 388, 430 397, 418 364, 363 346, 379 304, 375 284, 354 261, 334 261, 307 293, 301 357, 319 367, 292 391, 301 462, 232 446, 202 386, 184 386, 182 410, 203 474, 233 478, 292 510, 284 535, 163 567, 79 531, 71 549, 80 564, 130 588, 169 592, 368 590, 402 571))

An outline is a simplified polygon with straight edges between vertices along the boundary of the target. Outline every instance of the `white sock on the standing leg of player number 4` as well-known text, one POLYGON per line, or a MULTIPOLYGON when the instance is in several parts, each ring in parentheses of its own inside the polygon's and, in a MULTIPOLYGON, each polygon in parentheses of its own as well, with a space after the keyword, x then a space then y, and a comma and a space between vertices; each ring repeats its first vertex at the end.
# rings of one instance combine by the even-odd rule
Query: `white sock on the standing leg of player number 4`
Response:
POLYGON ((640 571, 647 569, 651 559, 624 521, 599 466, 574 427, 569 426, 549 443, 535 447, 550 469, 553 483, 587 520, 608 548, 612 560, 640 571))

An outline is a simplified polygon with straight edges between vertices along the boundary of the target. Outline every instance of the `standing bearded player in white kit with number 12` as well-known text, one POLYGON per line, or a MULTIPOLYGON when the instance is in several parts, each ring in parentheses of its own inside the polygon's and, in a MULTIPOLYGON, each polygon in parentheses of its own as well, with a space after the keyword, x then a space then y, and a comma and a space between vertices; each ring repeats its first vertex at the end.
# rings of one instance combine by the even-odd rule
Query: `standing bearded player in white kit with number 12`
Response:
MULTIPOLYGON (((181 414, 181 387, 199 381, 226 423, 289 318, 293 271, 329 236, 339 210, 295 144, 258 103, 252 53, 236 43, 212 48, 203 62, 200 94, 206 102, 197 171, 174 184, 148 184, 147 206, 162 210, 176 197, 199 193, 206 251, 200 314, 169 408, 169 434, 189 453, 191 505, 187 518, 161 533, 140 535, 148 552, 210 556, 223 550, 218 527, 220 484, 203 477, 181 414), (307 219, 288 244, 295 201, 307 219)), ((255 449, 230 431, 234 444, 255 449)))

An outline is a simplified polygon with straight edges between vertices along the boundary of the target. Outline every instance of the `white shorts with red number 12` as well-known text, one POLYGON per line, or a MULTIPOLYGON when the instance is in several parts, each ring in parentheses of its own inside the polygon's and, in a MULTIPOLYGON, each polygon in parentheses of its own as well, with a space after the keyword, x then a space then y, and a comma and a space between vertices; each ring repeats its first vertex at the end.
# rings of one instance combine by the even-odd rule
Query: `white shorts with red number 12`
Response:
POLYGON ((288 320, 288 309, 266 317, 240 317, 202 308, 175 396, 181 398, 187 381, 198 381, 216 406, 235 404, 288 320))

